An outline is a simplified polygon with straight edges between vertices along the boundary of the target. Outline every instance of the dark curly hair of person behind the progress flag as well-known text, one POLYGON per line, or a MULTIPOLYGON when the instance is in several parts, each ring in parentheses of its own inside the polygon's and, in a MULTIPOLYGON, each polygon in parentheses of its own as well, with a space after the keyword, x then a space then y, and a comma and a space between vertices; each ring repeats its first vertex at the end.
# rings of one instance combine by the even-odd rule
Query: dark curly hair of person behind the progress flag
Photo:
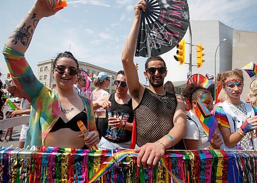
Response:
POLYGON ((187 97, 189 99, 189 103, 192 108, 192 102, 196 101, 197 98, 200 98, 202 94, 210 94, 210 91, 205 90, 205 88, 201 85, 190 83, 186 86, 182 91, 182 96, 187 97))

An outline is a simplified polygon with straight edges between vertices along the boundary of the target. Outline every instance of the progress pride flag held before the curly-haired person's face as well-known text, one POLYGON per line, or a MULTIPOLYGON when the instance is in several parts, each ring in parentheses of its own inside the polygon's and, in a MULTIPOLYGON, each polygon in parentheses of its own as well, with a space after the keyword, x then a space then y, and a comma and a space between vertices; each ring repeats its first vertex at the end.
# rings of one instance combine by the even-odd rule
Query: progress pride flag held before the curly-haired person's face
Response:
POLYGON ((216 130, 218 125, 218 121, 216 118, 211 114, 210 111, 200 102, 197 100, 197 105, 195 107, 195 113, 198 117, 201 125, 204 128, 205 134, 207 135, 209 142, 211 142, 212 136, 216 130))

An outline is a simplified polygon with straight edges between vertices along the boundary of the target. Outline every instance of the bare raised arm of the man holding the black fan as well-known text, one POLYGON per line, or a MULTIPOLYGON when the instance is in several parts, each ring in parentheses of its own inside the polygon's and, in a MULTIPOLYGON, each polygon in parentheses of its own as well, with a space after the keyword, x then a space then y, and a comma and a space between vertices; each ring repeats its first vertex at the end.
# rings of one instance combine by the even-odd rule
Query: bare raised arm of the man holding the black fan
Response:
POLYGON ((134 53, 136 49, 138 27, 140 21, 140 9, 142 9, 142 11, 145 11, 145 7, 145 1, 140 1, 134 6, 135 19, 123 47, 121 58, 126 78, 129 78, 126 81, 128 90, 130 91, 132 99, 136 100, 137 102, 140 98, 139 95, 143 95, 144 87, 139 83, 137 69, 134 65, 134 53))

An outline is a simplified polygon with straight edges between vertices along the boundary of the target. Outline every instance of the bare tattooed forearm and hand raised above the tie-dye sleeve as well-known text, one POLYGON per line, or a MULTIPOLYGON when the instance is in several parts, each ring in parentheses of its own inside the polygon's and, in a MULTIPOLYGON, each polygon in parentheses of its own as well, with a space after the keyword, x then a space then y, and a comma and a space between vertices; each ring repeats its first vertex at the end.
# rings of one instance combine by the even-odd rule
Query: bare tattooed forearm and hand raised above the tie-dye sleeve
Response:
MULTIPOLYGON (((61 1, 59 1, 61 4, 61 1)), ((24 19, 17 25, 6 41, 6 45, 25 53, 31 42, 32 35, 43 17, 51 16, 61 10, 56 9, 56 0, 37 0, 24 19)))

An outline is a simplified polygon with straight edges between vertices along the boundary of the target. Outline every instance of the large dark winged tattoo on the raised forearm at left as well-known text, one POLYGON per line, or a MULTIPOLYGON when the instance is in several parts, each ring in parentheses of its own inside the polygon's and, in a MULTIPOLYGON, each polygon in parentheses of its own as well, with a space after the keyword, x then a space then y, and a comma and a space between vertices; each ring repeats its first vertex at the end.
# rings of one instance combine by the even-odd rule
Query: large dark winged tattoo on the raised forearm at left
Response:
POLYGON ((16 27, 8 39, 14 38, 12 44, 17 44, 18 41, 21 41, 24 46, 27 46, 31 37, 31 34, 29 33, 30 27, 31 25, 26 28, 25 23, 22 27, 16 27))

